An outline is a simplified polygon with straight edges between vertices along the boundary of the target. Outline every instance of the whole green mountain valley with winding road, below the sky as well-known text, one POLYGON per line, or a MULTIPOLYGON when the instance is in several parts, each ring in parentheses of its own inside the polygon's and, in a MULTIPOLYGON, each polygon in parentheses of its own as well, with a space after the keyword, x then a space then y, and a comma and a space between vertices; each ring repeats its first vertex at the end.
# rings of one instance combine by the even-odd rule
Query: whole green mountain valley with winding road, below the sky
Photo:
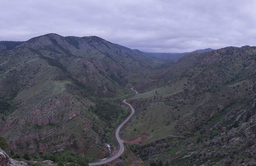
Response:
POLYGON ((256 47, 152 54, 95 36, 1 41, 7 153, 91 166, 255 164, 256 47))

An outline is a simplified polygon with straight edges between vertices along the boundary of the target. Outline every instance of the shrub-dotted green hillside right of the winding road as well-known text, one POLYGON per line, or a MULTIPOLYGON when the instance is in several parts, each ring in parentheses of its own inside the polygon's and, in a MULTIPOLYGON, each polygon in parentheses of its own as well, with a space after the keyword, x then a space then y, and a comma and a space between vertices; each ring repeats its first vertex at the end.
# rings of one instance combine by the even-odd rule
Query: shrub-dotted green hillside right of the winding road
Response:
POLYGON ((136 87, 137 112, 122 137, 144 138, 135 154, 145 161, 254 165, 255 60, 250 46, 182 57, 136 87))

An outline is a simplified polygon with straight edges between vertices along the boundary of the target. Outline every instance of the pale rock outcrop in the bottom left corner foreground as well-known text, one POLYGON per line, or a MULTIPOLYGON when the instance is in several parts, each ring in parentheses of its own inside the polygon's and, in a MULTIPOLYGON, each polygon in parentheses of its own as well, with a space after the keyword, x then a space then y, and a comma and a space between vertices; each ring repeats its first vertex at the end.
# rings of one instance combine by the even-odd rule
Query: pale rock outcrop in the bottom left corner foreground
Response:
POLYGON ((27 163, 11 159, 5 151, 0 149, 0 166, 27 166, 27 163))

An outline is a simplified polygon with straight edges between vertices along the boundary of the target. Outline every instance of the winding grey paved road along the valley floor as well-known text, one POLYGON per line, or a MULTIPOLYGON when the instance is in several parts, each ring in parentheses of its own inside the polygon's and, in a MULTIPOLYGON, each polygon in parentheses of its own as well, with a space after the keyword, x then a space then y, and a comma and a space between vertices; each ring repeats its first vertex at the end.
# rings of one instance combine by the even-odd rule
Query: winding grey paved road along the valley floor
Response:
MULTIPOLYGON (((133 91, 136 93, 136 95, 139 94, 139 93, 138 93, 136 90, 134 90, 133 88, 131 88, 131 90, 133 90, 133 91)), ((124 146, 123 146, 122 140, 121 140, 120 137, 119 137, 119 132, 120 132, 120 129, 123 127, 123 125, 126 124, 126 122, 128 122, 128 120, 130 120, 130 117, 132 117, 133 114, 134 114, 133 106, 130 105, 129 103, 127 103, 127 102, 126 102, 126 99, 123 100, 123 103, 126 103, 127 105, 129 105, 130 110, 132 111, 132 113, 131 113, 131 114, 126 118, 126 120, 124 120, 123 123, 121 123, 121 124, 118 126, 118 128, 116 129, 116 139, 117 139, 117 141, 118 141, 118 143, 119 143, 119 145, 120 145, 119 151, 117 152, 117 154, 115 154, 114 156, 112 156, 112 157, 110 157, 110 158, 103 159, 103 160, 98 161, 98 162, 95 162, 95 163, 89 163, 89 166, 97 166, 97 165, 101 165, 101 164, 106 164, 106 163, 108 163, 108 162, 110 162, 110 161, 113 161, 114 159, 117 159, 117 158, 118 158, 119 156, 121 156, 121 154, 123 153, 123 151, 124 151, 124 146)))

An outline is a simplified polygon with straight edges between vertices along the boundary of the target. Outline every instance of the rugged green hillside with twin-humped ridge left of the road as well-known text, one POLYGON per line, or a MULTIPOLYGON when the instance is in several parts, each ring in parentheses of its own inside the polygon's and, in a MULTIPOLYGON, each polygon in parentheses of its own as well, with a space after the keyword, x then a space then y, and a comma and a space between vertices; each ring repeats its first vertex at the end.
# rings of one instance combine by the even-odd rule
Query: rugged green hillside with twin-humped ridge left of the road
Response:
POLYGON ((110 135, 128 114, 115 98, 161 66, 95 36, 0 43, 0 135, 21 154, 108 155, 104 144, 114 144, 110 135))

